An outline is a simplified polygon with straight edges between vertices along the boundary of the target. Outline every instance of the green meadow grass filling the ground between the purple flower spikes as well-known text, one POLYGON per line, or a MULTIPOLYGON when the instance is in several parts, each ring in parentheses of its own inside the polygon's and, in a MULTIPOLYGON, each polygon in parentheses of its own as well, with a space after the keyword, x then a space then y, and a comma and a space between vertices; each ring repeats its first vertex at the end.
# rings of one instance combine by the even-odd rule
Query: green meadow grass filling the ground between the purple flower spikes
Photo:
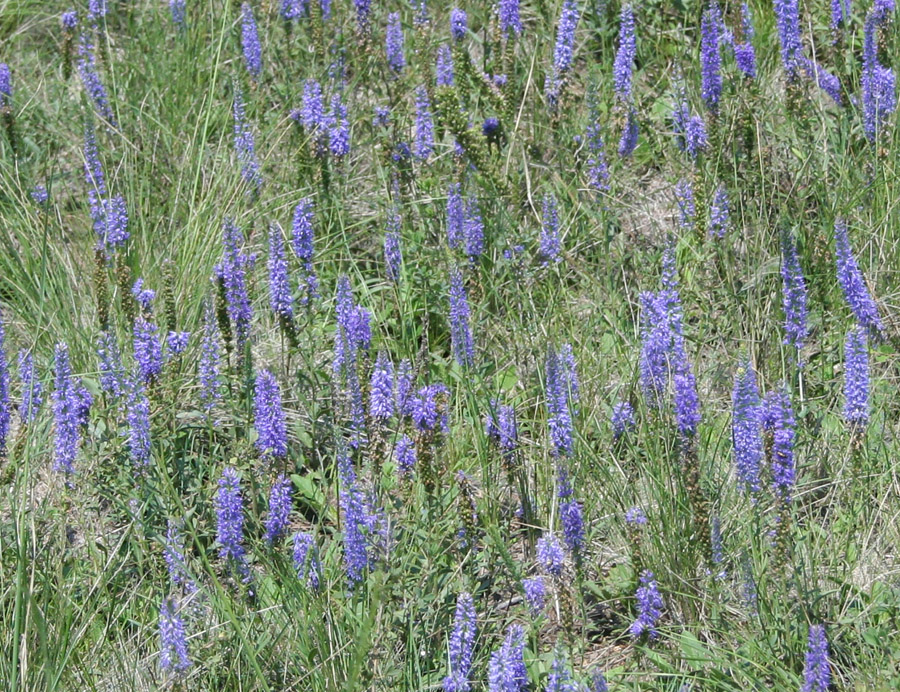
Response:
MULTIPOLYGON (((77 68, 64 79, 59 11, 65 8, 0 1, 0 60, 13 71, 17 138, 14 150, 6 132, 0 137, 4 349, 13 400, 20 396, 19 349, 33 353, 48 399, 27 428, 14 415, 0 463, 3 688, 438 689, 447 674, 456 597, 466 590, 478 613, 473 689, 487 689, 490 654, 512 623, 526 627, 532 689, 544 688, 560 653, 580 680, 599 666, 615 690, 675 691, 684 683, 695 692, 797 690, 808 627, 815 623, 827 627, 834 689, 897 689, 895 118, 876 151, 863 136, 857 105, 838 108, 804 81, 796 105, 788 107, 772 8, 752 3, 760 78, 744 83, 733 60, 724 60, 720 146, 692 167, 674 146, 669 113, 677 69, 702 112, 701 7, 653 2, 637 8, 641 141, 634 156, 622 160, 615 149, 623 114, 611 77, 618 4, 584 3, 575 67, 551 114, 543 84, 560 3, 535 0, 522 9, 525 32, 509 75, 513 117, 504 122, 504 145, 491 153, 493 173, 467 170, 445 135, 428 163, 414 162, 401 175, 393 197, 392 142, 414 136, 414 90, 433 84, 449 6, 433 3, 432 22, 421 31, 413 28, 407 4, 376 7, 371 44, 363 49, 352 3, 334 3, 325 25, 326 59, 313 50, 308 20, 288 34, 275 4, 254 3, 264 60, 263 78, 254 86, 242 62, 234 3, 189 2, 188 26, 179 32, 166 3, 110 2, 98 65, 119 124, 112 128, 94 118, 77 68), (406 34, 408 67, 396 79, 383 57, 389 11, 401 12, 406 34), (338 56, 346 70, 353 150, 331 165, 326 186, 289 114, 300 106, 305 80, 318 79, 330 91, 338 56), (243 90, 262 164, 258 199, 247 194, 234 152, 236 87, 243 90), (612 189, 602 198, 587 186, 588 92, 596 93, 610 162, 612 189), (392 118, 387 132, 372 124, 375 106, 386 104, 392 118), (132 279, 143 277, 161 292, 164 262, 172 260, 178 329, 192 332, 188 352, 166 365, 151 390, 152 464, 140 477, 129 458, 125 412, 99 384, 96 237, 82 171, 83 128, 91 118, 108 187, 128 204, 131 238, 119 261, 132 279), (683 177, 693 180, 701 202, 718 183, 727 186, 733 229, 724 239, 706 235, 705 219, 693 232, 678 227, 673 188, 683 177), (485 221, 485 252, 471 264, 445 240, 447 185, 454 180, 478 192, 485 221), (29 197, 39 183, 50 191, 46 209, 29 197), (542 266, 541 200, 550 192, 559 202, 563 258, 542 266), (269 311, 266 236, 272 222, 289 233, 294 206, 307 195, 315 197, 322 297, 309 309, 298 307, 298 345, 290 347, 269 311), (392 201, 403 216, 399 284, 387 279, 382 249, 392 201), (872 418, 858 450, 841 415, 843 339, 853 317, 835 278, 838 216, 849 221, 851 243, 888 330, 888 339, 871 345, 872 418), (228 398, 214 424, 198 398, 202 306, 215 293, 226 217, 259 253, 250 281, 252 362, 272 369, 282 387, 287 471, 294 481, 291 526, 316 536, 323 565, 318 592, 298 580, 288 540, 273 548, 263 539, 273 469, 253 447, 252 379, 233 358, 228 398), (811 333, 802 370, 782 343, 783 230, 797 238, 809 287, 811 333), (713 573, 703 558, 709 537, 694 529, 672 412, 648 410, 639 386, 639 295, 658 288, 667 237, 675 241, 687 350, 701 399, 703 487, 721 520, 724 560, 713 573), (514 250, 519 245, 523 249, 514 250), (451 355, 447 287, 453 266, 464 269, 471 300, 477 358, 469 369, 451 355), (450 388, 450 432, 437 452, 434 493, 421 478, 397 480, 392 462, 381 467, 371 450, 354 454, 361 481, 384 510, 390 538, 352 591, 342 565, 335 462, 345 421, 336 420, 331 383, 333 296, 341 274, 372 311, 372 360, 379 350, 395 365, 411 359, 420 373, 417 386, 441 381, 450 388), (52 470, 48 403, 53 348, 60 341, 95 395, 71 487, 52 470), (570 471, 584 503, 586 552, 577 572, 567 566, 566 586, 551 590, 548 608, 535 620, 522 603, 521 579, 537 573, 535 541, 559 521, 544 359, 549 347, 563 343, 573 346, 581 380, 570 471), (770 536, 771 493, 751 502, 736 486, 731 388, 744 357, 764 391, 788 383, 798 419, 784 566, 770 536), (511 474, 484 432, 492 399, 516 407, 520 450, 511 474), (609 413, 618 399, 635 405, 638 424, 615 444, 609 413), (227 465, 242 478, 252 594, 217 552, 216 483, 227 465), (474 550, 457 540, 464 499, 457 471, 469 474, 475 488, 474 550), (525 499, 533 516, 518 517, 525 499), (665 601, 660 637, 652 642, 628 634, 637 575, 624 514, 635 505, 649 520, 642 564, 655 573, 665 601), (184 521, 187 563, 200 587, 190 597, 172 585, 163 560, 170 518, 184 521), (756 584, 755 609, 743 597, 747 573, 756 584), (159 660, 159 608, 169 594, 182 597, 193 662, 174 683, 166 682, 159 660)), ((472 30, 465 48, 480 68, 497 59, 491 8, 465 9, 472 30)), ((807 50, 815 45, 846 93, 858 95, 864 8, 854 9, 839 50, 831 46, 826 8, 802 9, 807 50)), ((881 59, 896 65, 896 22, 884 33, 881 59)), ((460 90, 476 126, 502 115, 486 92, 460 90)), ((291 270, 296 287, 295 258, 291 270)), ((111 283, 109 290, 113 329, 130 363, 121 289, 111 283)), ((156 317, 163 318, 161 299, 156 317)), ((391 434, 387 448, 393 444, 391 434)))

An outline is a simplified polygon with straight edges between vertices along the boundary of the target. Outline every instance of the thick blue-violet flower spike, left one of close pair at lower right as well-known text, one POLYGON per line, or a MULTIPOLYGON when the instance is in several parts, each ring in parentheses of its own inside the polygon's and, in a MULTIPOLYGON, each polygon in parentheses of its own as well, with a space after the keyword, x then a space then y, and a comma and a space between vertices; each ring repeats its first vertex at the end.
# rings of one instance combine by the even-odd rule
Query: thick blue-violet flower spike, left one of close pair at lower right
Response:
POLYGON ((738 486, 745 492, 757 493, 763 459, 762 428, 756 373, 749 361, 744 361, 738 368, 731 401, 731 439, 738 486))

